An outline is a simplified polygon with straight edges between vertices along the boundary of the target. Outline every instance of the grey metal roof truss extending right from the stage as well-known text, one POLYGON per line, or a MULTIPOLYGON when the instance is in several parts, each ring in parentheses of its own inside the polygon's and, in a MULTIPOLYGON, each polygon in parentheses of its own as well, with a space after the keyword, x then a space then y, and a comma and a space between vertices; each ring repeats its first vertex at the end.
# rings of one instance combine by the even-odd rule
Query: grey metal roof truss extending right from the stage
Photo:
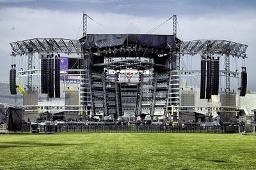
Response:
POLYGON ((182 41, 180 43, 180 53, 195 55, 198 53, 233 55, 236 57, 246 57, 248 45, 234 43, 226 40, 200 39, 194 41, 182 41))

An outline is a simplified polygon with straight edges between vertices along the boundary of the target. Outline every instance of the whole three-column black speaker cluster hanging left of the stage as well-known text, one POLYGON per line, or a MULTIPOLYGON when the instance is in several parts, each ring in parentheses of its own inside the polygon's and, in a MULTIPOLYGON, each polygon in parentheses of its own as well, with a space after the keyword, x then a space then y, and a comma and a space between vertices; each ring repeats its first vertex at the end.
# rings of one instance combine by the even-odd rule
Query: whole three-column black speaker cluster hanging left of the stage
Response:
POLYGON ((49 94, 49 97, 54 97, 54 85, 55 85, 55 97, 60 97, 60 61, 57 56, 55 56, 55 59, 54 59, 53 54, 46 55, 46 57, 42 55, 42 59, 41 59, 42 94, 49 94))

